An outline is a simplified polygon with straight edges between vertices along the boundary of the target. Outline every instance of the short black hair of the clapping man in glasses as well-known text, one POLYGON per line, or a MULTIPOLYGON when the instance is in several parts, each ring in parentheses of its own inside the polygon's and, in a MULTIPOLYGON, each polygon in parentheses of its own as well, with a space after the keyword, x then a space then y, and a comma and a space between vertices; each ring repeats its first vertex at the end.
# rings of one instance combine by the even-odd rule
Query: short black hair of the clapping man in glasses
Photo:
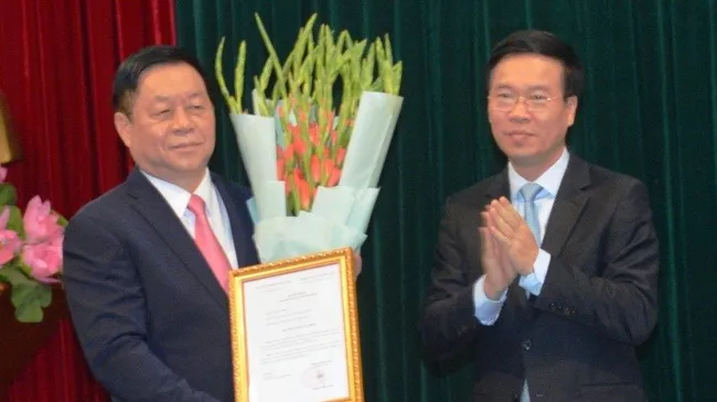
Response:
POLYGON ((490 88, 493 68, 505 57, 516 54, 537 54, 563 64, 563 89, 565 98, 580 96, 585 85, 582 65, 572 47, 550 32, 525 30, 510 34, 491 52, 485 70, 485 85, 490 88))

